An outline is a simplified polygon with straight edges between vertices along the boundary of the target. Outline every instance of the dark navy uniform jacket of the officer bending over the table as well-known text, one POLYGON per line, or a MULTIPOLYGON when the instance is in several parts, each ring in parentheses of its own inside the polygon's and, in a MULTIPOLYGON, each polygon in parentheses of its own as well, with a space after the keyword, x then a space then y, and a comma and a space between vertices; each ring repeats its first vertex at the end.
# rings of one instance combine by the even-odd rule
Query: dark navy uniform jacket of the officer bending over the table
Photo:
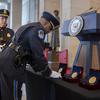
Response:
POLYGON ((49 76, 51 70, 43 53, 45 35, 46 32, 40 23, 31 23, 22 26, 15 33, 14 42, 20 44, 24 52, 30 54, 29 63, 35 72, 41 72, 44 76, 49 76), (20 33, 22 34, 20 35, 20 33))

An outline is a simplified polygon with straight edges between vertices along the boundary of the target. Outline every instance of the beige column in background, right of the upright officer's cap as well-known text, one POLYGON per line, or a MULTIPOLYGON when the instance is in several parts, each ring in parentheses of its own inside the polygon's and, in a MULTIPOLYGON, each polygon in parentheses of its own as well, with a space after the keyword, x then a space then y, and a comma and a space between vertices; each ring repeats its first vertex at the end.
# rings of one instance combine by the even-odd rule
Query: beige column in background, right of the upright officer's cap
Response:
POLYGON ((11 23, 10 26, 17 30, 21 26, 22 0, 11 0, 11 23))

